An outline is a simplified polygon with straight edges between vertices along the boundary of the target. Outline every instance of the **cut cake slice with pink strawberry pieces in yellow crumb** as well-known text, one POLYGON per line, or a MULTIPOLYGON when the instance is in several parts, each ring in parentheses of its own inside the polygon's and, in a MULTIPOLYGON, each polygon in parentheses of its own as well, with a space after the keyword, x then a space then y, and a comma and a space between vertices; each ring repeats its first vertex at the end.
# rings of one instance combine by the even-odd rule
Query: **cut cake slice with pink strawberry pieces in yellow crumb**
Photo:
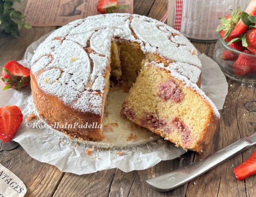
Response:
POLYGON ((219 120, 217 108, 196 84, 156 62, 142 65, 121 113, 177 146, 198 152, 211 141, 219 120))

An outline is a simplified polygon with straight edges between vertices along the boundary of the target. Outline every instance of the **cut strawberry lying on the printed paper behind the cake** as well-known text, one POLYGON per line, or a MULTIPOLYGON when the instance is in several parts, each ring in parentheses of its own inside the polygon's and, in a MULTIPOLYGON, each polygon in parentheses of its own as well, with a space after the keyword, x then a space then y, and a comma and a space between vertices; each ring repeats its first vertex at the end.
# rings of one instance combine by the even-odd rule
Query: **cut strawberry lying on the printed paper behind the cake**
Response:
POLYGON ((113 13, 115 10, 129 8, 129 6, 119 6, 117 0, 99 0, 97 10, 101 14, 113 13))

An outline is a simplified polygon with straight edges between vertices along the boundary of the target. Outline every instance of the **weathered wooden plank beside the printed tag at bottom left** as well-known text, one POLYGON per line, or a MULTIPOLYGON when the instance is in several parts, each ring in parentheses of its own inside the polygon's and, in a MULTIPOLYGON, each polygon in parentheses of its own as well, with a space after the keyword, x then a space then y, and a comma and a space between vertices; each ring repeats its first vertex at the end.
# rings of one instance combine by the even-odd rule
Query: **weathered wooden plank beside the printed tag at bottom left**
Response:
POLYGON ((19 177, 27 187, 28 196, 51 196, 62 178, 56 167, 31 158, 19 146, 12 151, 0 152, 0 163, 19 177))

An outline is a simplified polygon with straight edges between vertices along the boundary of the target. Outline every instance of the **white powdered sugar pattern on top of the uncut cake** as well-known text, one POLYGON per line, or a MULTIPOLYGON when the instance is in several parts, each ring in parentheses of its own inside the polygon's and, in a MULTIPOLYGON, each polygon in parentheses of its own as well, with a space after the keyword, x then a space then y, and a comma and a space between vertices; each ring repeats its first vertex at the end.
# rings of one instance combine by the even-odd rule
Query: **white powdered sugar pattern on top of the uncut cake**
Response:
POLYGON ((172 60, 165 69, 197 82, 201 62, 189 40, 155 19, 115 13, 78 19, 50 34, 31 60, 38 86, 78 111, 101 115, 104 76, 116 37, 140 43, 144 53, 172 60))

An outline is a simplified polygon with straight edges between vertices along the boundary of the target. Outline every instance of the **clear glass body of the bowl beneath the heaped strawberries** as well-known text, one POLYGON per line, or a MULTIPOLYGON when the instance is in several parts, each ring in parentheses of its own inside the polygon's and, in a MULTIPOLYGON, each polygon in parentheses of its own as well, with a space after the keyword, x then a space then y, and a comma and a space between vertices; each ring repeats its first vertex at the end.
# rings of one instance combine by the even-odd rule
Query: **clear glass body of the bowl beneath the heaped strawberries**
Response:
MULTIPOLYGON (((221 35, 218 36, 218 41, 215 45, 214 49, 214 60, 219 64, 222 72, 229 78, 243 82, 243 83, 256 83, 256 55, 251 55, 247 53, 243 53, 241 51, 235 50, 229 46, 222 39, 221 35), (234 57, 233 61, 226 61, 222 58, 222 54, 224 51, 228 51, 232 53, 234 57), (237 58, 249 58, 251 65, 249 65, 250 71, 246 74, 241 75, 241 72, 236 72, 236 68, 233 68, 234 62, 237 58)), ((241 69, 247 68, 248 65, 241 65, 241 69)))

